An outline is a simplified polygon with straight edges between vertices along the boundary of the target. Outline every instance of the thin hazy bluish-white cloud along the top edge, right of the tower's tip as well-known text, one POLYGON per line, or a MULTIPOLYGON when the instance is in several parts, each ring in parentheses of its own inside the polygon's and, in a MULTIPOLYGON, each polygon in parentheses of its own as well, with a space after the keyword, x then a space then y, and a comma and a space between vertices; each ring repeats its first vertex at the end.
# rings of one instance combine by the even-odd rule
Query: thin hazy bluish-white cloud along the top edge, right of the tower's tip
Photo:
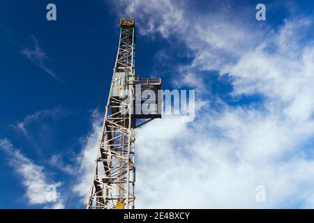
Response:
MULTIPOLYGON (((119 1, 117 11, 135 17, 141 34, 156 37, 160 33, 163 38, 171 38, 172 44, 190 49, 193 63, 178 65, 179 68, 186 68, 187 72, 196 69, 225 73, 264 38, 269 27, 247 22, 243 15, 249 14, 250 8, 243 7, 239 13, 232 10, 232 4, 224 4, 208 7, 206 13, 202 13, 192 2, 186 1, 119 1)), ((184 79, 186 72, 179 71, 184 79)))

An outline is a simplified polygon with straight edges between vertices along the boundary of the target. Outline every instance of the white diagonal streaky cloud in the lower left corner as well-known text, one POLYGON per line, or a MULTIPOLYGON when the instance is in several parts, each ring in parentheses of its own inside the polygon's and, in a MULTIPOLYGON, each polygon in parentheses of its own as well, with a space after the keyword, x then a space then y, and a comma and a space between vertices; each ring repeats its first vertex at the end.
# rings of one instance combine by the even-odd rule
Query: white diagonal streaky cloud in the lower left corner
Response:
POLYGON ((23 155, 8 139, 0 139, 0 149, 8 156, 9 164, 22 179, 22 185, 26 189, 26 197, 31 204, 54 203, 50 208, 62 208, 59 192, 50 190, 51 185, 58 188, 60 182, 47 180, 44 167, 34 164, 32 160, 23 155))

